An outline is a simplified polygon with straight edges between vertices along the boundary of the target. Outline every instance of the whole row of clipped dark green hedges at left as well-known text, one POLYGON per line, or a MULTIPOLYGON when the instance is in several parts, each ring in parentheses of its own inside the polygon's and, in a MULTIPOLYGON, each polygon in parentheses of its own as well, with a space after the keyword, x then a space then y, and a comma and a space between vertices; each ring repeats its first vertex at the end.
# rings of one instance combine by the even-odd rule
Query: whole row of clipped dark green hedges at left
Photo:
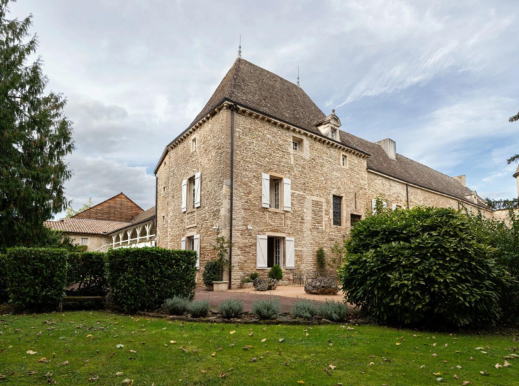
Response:
POLYGON ((192 250, 120 248, 70 253, 58 248, 10 248, 0 255, 0 301, 51 309, 64 294, 105 296, 127 311, 156 309, 166 298, 194 297, 192 250))

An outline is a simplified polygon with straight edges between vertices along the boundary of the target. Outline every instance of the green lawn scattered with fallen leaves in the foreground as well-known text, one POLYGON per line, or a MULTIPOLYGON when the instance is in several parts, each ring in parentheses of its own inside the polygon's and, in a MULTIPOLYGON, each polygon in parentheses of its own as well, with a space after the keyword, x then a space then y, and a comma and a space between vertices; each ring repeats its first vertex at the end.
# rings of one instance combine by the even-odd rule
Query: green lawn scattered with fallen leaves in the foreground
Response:
POLYGON ((47 385, 48 372, 59 385, 121 385, 125 378, 134 380, 134 385, 155 386, 271 386, 299 385, 299 381, 519 385, 519 359, 508 359, 511 367, 494 368, 519 345, 512 331, 450 335, 364 325, 182 324, 77 311, 0 319, 0 374, 6 376, 0 386, 47 385), (124 348, 116 348, 118 344, 124 348), (28 355, 27 350, 37 353, 28 355), (40 362, 42 358, 47 362, 40 362), (68 365, 62 364, 65 361, 68 365), (116 376, 117 372, 123 375, 116 376), (227 375, 220 378, 221 373, 227 375), (89 383, 94 376, 99 379, 89 383))

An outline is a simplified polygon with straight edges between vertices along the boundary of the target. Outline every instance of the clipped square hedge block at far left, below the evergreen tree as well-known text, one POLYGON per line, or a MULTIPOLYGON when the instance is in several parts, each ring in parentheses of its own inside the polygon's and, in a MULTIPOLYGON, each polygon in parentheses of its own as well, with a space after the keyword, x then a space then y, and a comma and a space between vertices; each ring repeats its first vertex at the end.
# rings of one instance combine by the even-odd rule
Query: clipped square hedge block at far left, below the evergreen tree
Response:
POLYGON ((66 250, 10 248, 5 269, 8 294, 15 305, 27 309, 57 307, 66 284, 66 250))

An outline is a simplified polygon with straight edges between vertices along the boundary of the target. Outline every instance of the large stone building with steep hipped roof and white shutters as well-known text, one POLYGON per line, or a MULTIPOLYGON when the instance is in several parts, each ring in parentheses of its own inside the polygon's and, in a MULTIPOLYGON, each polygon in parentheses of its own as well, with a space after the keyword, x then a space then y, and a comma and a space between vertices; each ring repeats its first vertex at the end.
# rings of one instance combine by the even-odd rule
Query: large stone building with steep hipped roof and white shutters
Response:
POLYGON ((348 237, 381 197, 391 209, 427 205, 492 217, 465 176, 449 177, 369 142, 324 114, 299 85, 238 57, 200 114, 155 168, 157 245, 214 259, 233 242, 230 283, 279 263, 316 268, 316 250, 348 237))

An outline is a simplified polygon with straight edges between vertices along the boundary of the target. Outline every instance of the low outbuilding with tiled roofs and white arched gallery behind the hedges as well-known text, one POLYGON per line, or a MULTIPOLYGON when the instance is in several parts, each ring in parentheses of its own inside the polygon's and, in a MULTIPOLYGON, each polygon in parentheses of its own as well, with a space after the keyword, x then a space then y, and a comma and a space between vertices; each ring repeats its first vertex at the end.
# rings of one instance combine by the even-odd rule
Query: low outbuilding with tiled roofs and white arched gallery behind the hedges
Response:
POLYGON ((155 246, 155 207, 144 211, 120 193, 86 211, 45 225, 63 231, 74 244, 86 250, 155 246))

